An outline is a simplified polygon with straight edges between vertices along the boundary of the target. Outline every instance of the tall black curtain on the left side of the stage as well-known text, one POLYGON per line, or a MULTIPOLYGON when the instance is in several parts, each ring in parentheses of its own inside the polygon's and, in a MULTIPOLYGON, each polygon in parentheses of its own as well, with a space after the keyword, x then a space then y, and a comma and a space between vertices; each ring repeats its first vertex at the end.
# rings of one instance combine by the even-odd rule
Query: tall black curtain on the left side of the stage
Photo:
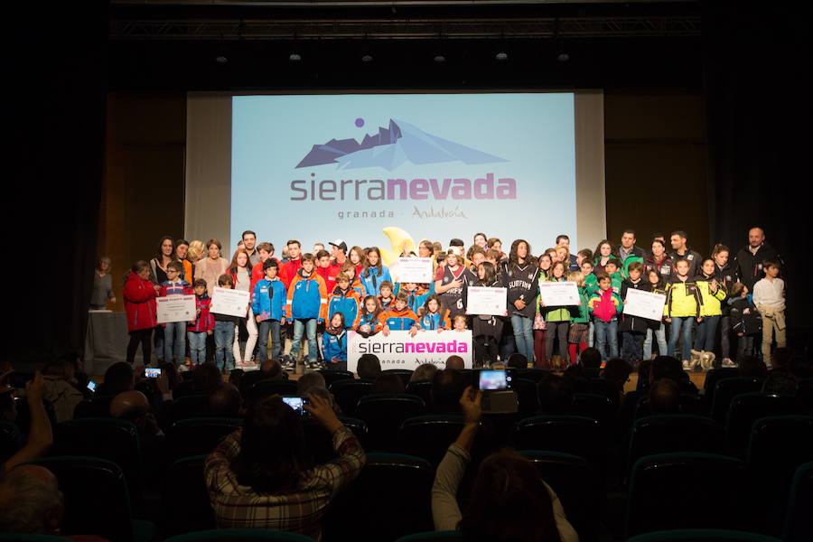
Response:
POLYGON ((96 257, 107 95, 107 1, 7 6, 3 359, 84 342, 96 257))

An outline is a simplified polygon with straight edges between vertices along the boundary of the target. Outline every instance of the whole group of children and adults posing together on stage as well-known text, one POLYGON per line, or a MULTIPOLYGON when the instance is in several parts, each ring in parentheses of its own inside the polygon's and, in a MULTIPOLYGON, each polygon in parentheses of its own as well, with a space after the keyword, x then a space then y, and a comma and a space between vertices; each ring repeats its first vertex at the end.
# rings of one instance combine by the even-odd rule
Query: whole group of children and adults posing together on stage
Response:
MULTIPOLYGON (((341 239, 329 243, 330 252, 317 243, 305 253, 291 239, 277 257, 272 243, 257 243, 257 235, 245 231, 227 260, 218 239, 204 244, 164 237, 157 256, 135 262, 126 275, 127 360, 134 362, 140 344, 149 364, 154 341, 159 360, 182 364, 188 341, 193 366, 207 354, 211 359, 211 336, 222 369, 245 367, 252 359, 261 363, 269 353, 292 369, 306 340, 307 364, 314 369, 347 360, 350 330, 414 335, 470 329, 477 367, 516 351, 536 367, 550 368, 555 350, 566 365, 593 345, 603 360, 621 354, 633 364, 652 358, 657 348, 683 360, 686 369, 705 352, 717 350, 718 364, 733 366, 756 348, 770 365, 772 342, 785 346, 785 291, 780 255, 765 242, 762 229, 751 229, 748 245, 734 257, 722 244, 700 255, 679 230, 668 238, 654 235, 646 249, 636 242, 635 232, 627 229, 617 246, 605 239, 594 251, 572 254, 570 239, 559 235, 553 247, 534 256, 524 239, 511 242, 506 253, 499 238, 484 233, 474 235, 469 248, 459 238, 445 249, 422 240, 416 253, 401 255, 433 258, 435 281, 416 284, 393 281, 377 247, 349 247, 341 239), (579 304, 546 306, 539 285, 547 281, 575 283, 579 304), (250 293, 245 318, 210 312, 216 286, 250 293), (506 288, 508 313, 467 315, 470 286, 506 288), (663 317, 624 314, 630 289, 664 294, 663 317), (192 293, 194 320, 156 323, 156 297, 192 293), (248 333, 242 347, 241 328, 248 333), (292 338, 287 352, 286 335, 292 338)), ((97 278, 105 276, 108 281, 109 260, 101 258, 97 278)), ((99 283, 94 308, 115 297, 107 282, 99 283)))

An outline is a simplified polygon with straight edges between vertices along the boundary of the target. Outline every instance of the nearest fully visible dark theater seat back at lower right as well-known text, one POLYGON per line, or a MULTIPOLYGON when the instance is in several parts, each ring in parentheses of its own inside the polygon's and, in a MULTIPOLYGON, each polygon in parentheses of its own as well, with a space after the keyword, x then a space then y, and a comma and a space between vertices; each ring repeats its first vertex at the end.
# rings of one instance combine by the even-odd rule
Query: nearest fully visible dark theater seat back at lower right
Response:
POLYGON ((712 453, 647 455, 632 467, 627 536, 670 528, 750 528, 743 462, 712 453))

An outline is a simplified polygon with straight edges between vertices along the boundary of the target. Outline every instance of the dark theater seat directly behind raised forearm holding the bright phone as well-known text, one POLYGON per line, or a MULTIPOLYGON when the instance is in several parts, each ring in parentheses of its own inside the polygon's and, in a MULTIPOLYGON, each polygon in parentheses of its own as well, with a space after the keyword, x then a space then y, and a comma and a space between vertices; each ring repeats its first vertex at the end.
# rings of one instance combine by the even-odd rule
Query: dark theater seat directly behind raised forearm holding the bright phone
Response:
POLYGON ((463 430, 463 416, 416 416, 398 431, 398 452, 422 457, 435 467, 463 430))

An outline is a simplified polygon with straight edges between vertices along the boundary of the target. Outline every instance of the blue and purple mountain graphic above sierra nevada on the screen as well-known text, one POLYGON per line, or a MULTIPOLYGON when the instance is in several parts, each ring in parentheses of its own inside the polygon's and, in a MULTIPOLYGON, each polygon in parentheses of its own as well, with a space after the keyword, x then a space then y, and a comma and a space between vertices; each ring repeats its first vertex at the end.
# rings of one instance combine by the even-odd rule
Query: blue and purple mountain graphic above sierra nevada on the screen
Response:
POLYGON ((324 145, 313 145, 311 152, 296 167, 338 164, 340 169, 382 167, 392 171, 406 162, 490 164, 507 160, 427 134, 404 121, 390 119, 388 128, 379 127, 377 135, 366 135, 361 143, 355 139, 332 139, 324 145))

